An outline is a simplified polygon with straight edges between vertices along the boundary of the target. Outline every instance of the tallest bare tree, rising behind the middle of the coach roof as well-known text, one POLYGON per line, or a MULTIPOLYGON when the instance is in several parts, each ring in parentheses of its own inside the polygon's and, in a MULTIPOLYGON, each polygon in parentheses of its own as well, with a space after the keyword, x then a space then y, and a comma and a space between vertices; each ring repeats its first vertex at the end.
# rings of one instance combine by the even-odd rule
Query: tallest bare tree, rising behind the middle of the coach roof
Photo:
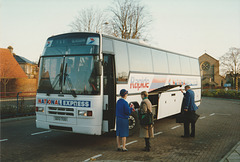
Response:
POLYGON ((137 0, 117 0, 110 7, 112 17, 110 34, 123 39, 146 37, 151 19, 146 8, 137 0))

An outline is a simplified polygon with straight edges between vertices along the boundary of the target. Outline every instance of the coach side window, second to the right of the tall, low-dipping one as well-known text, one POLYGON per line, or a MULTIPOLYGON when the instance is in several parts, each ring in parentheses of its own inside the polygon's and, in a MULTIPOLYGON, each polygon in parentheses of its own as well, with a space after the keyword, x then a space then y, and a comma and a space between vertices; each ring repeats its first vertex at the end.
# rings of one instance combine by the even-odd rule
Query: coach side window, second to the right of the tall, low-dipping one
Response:
POLYGON ((167 54, 164 51, 152 50, 154 73, 168 73, 167 54))

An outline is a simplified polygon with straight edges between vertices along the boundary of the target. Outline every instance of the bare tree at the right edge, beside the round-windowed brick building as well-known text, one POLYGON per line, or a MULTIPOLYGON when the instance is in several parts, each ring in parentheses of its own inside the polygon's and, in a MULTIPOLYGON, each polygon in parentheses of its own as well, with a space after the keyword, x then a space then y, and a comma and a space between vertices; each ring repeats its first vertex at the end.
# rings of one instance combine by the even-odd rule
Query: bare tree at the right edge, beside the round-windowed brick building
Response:
POLYGON ((240 48, 229 48, 229 51, 220 57, 220 65, 224 74, 231 74, 238 88, 238 78, 240 75, 240 48))

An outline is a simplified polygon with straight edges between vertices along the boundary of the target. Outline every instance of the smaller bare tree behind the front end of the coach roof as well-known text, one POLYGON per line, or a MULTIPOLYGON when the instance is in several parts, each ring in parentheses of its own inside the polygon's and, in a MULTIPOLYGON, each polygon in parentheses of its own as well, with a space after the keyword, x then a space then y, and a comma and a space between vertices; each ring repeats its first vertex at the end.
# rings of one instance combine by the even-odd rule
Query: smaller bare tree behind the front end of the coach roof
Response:
POLYGON ((102 32, 105 22, 106 16, 102 10, 97 8, 87 8, 78 13, 70 26, 72 31, 102 32))

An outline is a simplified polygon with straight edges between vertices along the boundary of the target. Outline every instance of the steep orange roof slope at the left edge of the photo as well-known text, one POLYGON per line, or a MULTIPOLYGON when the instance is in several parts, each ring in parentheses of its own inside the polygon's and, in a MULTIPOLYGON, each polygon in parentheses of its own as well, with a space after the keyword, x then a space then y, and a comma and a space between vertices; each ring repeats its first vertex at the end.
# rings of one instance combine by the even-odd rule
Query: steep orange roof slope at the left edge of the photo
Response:
POLYGON ((0 48, 0 78, 27 78, 9 49, 0 48))

